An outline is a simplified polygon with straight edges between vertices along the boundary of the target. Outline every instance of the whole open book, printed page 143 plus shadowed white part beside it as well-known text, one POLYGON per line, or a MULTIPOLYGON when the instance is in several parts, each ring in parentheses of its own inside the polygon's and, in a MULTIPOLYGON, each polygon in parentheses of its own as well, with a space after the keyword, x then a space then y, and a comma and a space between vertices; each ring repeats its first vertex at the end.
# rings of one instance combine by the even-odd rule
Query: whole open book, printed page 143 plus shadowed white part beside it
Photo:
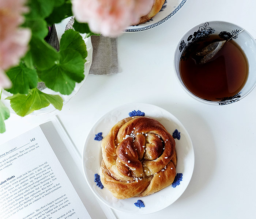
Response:
POLYGON ((83 189, 87 185, 74 150, 54 123, 0 146, 0 218, 91 219, 92 204, 94 217, 114 218, 97 201, 96 207, 91 203, 95 198, 83 189))

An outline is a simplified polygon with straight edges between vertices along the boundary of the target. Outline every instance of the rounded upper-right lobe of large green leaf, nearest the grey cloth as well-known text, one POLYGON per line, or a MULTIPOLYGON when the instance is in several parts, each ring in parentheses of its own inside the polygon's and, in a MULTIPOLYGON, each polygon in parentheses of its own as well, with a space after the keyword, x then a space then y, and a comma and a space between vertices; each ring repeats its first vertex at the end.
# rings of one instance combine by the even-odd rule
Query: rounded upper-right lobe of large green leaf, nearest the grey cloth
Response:
POLYGON ((60 50, 65 49, 74 49, 78 51, 83 58, 87 57, 86 44, 82 36, 72 29, 66 30, 61 36, 60 50))

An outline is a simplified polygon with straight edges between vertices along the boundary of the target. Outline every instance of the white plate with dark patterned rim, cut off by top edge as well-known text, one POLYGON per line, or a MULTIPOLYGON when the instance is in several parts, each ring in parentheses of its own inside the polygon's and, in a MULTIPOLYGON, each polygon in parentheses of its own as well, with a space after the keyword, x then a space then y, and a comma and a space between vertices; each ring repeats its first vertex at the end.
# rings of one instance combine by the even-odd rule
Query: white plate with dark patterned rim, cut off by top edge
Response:
POLYGON ((139 32, 157 27, 158 25, 166 22, 173 15, 175 15, 178 10, 185 4, 187 0, 165 0, 162 9, 146 23, 130 26, 124 29, 124 32, 139 32))

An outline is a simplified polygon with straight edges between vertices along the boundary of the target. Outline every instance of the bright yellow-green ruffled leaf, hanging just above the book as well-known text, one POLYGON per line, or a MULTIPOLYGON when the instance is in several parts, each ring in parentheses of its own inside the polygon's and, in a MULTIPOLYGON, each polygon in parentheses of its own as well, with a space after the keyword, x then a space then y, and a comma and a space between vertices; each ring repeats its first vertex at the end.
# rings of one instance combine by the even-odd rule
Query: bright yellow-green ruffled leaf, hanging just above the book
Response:
POLYGON ((57 110, 61 110, 63 107, 63 99, 59 95, 46 94, 37 88, 31 89, 28 95, 18 93, 6 99, 10 100, 11 108, 19 116, 26 116, 35 110, 48 107, 50 104, 57 110))

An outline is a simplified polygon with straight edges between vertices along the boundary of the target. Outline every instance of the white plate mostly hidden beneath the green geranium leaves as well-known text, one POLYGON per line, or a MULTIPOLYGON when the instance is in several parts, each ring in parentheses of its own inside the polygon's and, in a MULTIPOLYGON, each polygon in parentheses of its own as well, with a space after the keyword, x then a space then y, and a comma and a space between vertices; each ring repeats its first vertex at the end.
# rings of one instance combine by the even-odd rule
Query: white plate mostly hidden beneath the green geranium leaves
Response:
MULTIPOLYGON (((72 17, 66 18, 64 20, 62 20, 61 23, 55 24, 56 27, 56 31, 57 31, 57 35, 60 41, 60 38, 62 36, 62 34, 64 33, 65 30, 71 28, 72 25, 70 25, 70 22, 72 23, 72 17)), ((86 77, 89 74, 89 70, 91 67, 91 61, 93 60, 93 46, 91 44, 91 38, 85 38, 86 34, 80 34, 83 37, 83 40, 86 44, 86 50, 87 50, 87 57, 86 57, 86 63, 84 64, 84 79, 83 81, 81 81, 80 83, 76 83, 74 90, 72 91, 72 93, 70 95, 63 95, 60 92, 55 92, 49 88, 45 88, 44 90, 42 90, 42 92, 44 93, 48 93, 48 94, 53 94, 53 95, 60 95, 63 99, 63 105, 65 105, 66 103, 68 103, 68 101, 71 99, 71 97, 73 97, 74 95, 76 95, 76 93, 79 91, 79 89, 82 87, 84 81, 86 80, 86 77)), ((5 102, 5 105, 8 106, 8 108, 10 109, 10 112, 15 113, 14 110, 12 110, 12 108, 10 107, 10 101, 9 100, 4 100, 6 97, 8 96, 12 96, 11 93, 3 90, 3 101, 5 102)), ((34 112, 32 112, 29 115, 41 115, 41 114, 46 114, 46 113, 50 113, 55 111, 56 109, 53 107, 52 104, 50 104, 48 107, 42 108, 40 110, 35 110, 34 112)))

